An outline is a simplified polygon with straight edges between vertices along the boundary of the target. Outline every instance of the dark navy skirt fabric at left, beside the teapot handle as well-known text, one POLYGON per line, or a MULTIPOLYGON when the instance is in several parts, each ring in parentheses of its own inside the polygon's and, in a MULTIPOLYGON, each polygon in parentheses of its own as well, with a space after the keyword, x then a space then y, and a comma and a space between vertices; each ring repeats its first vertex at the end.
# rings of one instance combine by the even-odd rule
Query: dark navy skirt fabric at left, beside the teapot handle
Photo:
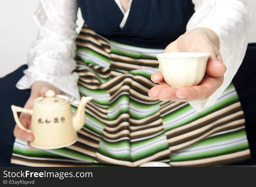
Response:
POLYGON ((30 89, 19 90, 16 88, 17 81, 24 75, 26 65, 21 66, 14 72, 0 78, 0 166, 10 165, 10 157, 13 149, 13 129, 15 121, 11 111, 11 105, 24 106, 30 96, 30 89))

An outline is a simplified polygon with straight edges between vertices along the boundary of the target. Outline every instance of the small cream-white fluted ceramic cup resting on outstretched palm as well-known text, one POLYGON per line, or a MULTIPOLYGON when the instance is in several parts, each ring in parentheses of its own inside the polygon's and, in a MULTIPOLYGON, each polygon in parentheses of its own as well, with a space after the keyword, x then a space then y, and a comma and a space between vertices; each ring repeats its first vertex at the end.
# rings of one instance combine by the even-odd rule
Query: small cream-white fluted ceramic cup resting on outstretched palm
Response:
POLYGON ((198 85, 204 75, 209 58, 204 52, 169 52, 156 55, 159 70, 171 87, 198 85))

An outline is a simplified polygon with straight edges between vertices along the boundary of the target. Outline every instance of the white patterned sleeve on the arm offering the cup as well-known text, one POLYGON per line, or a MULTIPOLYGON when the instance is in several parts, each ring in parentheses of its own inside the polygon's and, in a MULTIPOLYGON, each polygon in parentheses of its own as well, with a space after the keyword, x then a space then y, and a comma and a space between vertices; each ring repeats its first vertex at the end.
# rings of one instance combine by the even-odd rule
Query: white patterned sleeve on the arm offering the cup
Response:
POLYGON ((187 31, 196 27, 213 30, 220 40, 220 52, 227 67, 224 82, 213 95, 203 101, 191 101, 197 111, 213 105, 231 83, 242 63, 248 44, 251 16, 246 0, 192 0, 195 13, 187 24, 187 31))

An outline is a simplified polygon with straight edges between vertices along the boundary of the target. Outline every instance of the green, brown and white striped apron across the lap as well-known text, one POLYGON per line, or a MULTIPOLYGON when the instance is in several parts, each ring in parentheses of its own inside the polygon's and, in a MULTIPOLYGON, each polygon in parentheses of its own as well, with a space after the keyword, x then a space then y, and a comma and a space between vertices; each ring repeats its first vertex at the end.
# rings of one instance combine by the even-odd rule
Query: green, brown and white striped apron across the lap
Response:
MULTIPOLYGON (((196 112, 187 102, 159 101, 147 93, 163 50, 108 41, 83 26, 77 41, 77 72, 86 106, 79 140, 66 148, 30 150, 15 140, 13 165, 213 166, 250 157, 243 110, 231 84, 214 106, 196 112)), ((77 106, 72 106, 75 113, 77 106)))

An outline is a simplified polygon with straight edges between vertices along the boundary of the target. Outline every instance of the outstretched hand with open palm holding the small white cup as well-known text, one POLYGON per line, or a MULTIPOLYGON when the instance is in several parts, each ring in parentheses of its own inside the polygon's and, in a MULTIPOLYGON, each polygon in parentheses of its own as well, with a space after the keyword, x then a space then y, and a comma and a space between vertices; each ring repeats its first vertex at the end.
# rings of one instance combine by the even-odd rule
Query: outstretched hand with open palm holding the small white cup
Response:
POLYGON ((209 53, 205 76, 197 86, 173 88, 164 81, 161 71, 158 71, 152 74, 151 80, 159 85, 151 88, 148 95, 151 98, 158 97, 162 101, 195 101, 210 97, 223 83, 223 75, 226 72, 219 45, 218 36, 208 28, 195 28, 181 35, 170 43, 164 52, 209 53))

